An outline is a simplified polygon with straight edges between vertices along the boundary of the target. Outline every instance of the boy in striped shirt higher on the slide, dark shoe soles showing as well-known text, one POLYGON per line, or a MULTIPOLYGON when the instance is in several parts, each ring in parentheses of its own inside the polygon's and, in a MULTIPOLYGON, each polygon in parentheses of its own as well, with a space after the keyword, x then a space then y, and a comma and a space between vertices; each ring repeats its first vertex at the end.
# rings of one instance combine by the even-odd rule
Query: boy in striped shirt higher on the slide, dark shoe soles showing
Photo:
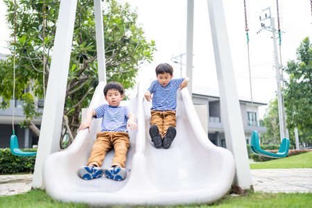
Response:
POLYGON ((173 79, 173 67, 166 63, 159 64, 155 71, 157 80, 153 81, 144 94, 147 101, 153 100, 149 133, 156 148, 167 149, 177 134, 175 130, 177 89, 187 87, 189 78, 173 79))

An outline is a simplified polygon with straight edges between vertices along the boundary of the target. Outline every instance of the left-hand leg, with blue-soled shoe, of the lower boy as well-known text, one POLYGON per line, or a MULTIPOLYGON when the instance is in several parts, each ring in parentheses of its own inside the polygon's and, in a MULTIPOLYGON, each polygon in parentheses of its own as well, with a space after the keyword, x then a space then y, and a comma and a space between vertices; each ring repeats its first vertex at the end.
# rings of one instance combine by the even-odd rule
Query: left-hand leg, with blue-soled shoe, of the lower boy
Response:
POLYGON ((108 132, 99 132, 96 136, 97 138, 92 146, 87 166, 81 166, 78 169, 78 175, 85 180, 102 177, 103 170, 101 165, 107 151, 110 150, 112 146, 108 132))

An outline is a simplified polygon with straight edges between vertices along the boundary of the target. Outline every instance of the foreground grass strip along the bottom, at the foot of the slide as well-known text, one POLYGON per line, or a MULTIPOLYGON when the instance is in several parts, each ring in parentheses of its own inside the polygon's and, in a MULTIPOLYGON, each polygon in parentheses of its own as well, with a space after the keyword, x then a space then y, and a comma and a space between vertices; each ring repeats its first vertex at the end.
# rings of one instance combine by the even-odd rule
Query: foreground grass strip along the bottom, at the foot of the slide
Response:
MULTIPOLYGON (((225 196, 212 205, 188 205, 175 207, 312 207, 312 193, 250 193, 247 196, 225 196)), ((85 204, 58 202, 44 191, 32 190, 15 196, 0 197, 0 207, 89 207, 85 204)))

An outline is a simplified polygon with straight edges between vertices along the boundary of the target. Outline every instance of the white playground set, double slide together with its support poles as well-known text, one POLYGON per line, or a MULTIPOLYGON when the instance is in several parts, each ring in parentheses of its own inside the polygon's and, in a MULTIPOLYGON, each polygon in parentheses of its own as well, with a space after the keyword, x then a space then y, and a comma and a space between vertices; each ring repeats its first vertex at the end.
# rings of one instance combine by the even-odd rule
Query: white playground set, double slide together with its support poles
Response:
MULTIPOLYGON (((177 139, 168 150, 155 149, 147 133, 150 106, 144 103, 142 88, 138 87, 137 98, 121 103, 128 105, 138 117, 138 130, 130 132, 131 147, 126 164, 131 168, 129 176, 122 182, 105 178, 85 181, 78 177, 77 168, 87 162, 101 122, 94 119, 92 132, 78 132, 67 150, 58 151, 76 4, 77 0, 60 2, 33 187, 45 187, 50 196, 59 200, 90 205, 177 205, 218 200, 231 187, 236 171, 235 184, 241 189, 250 189, 248 154, 243 123, 238 119, 241 112, 220 0, 208 0, 208 8, 223 109, 221 119, 227 148, 232 154, 211 144, 201 128, 187 89, 183 89, 177 98, 177 139)), ((99 85, 89 107, 104 101, 106 77, 101 4, 101 0, 94 0, 99 85)), ((187 49, 191 50, 193 0, 188 0, 187 11, 187 49)), ((192 53, 187 51, 187 70, 191 70, 191 60, 192 53)), ((110 164, 112 154, 108 153, 103 166, 110 164)))

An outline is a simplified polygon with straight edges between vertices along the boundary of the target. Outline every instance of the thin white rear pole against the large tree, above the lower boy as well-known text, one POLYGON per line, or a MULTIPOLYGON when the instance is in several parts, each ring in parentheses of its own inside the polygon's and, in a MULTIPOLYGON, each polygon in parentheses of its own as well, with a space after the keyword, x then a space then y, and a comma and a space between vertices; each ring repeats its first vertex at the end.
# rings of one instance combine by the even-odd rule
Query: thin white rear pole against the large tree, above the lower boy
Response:
POLYGON ((105 48, 102 1, 94 0, 94 19, 96 24, 96 54, 98 59, 98 82, 106 83, 105 48))

